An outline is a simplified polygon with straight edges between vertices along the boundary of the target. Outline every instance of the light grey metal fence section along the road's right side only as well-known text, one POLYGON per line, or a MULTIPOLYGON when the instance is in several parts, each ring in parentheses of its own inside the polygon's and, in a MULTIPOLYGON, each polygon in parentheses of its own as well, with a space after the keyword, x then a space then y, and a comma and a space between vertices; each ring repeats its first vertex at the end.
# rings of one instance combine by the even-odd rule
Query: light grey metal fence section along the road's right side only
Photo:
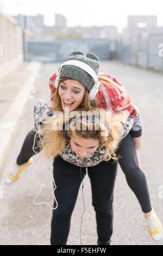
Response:
POLYGON ((129 45, 120 42, 118 56, 127 63, 163 70, 163 56, 159 54, 161 44, 163 44, 163 34, 141 34, 129 45))

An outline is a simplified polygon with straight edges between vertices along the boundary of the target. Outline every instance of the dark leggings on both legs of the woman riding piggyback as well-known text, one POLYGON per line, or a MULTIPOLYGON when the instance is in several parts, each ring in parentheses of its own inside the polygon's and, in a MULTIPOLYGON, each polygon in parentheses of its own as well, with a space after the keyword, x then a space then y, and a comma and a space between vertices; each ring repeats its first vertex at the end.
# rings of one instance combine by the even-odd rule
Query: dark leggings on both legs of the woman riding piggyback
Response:
MULTIPOLYGON (((30 157, 35 155, 33 151, 34 136, 36 131, 32 130, 26 136, 20 155, 17 157, 17 164, 23 164, 27 162, 30 157)), ((37 148, 37 142, 39 137, 36 137, 35 150, 39 153, 39 148, 37 148)), ((117 150, 117 154, 120 155, 118 162, 126 175, 126 180, 135 193, 135 196, 139 200, 143 212, 149 212, 152 210, 149 192, 147 187, 147 181, 145 174, 137 167, 133 138, 130 133, 121 141, 120 148, 117 150)))

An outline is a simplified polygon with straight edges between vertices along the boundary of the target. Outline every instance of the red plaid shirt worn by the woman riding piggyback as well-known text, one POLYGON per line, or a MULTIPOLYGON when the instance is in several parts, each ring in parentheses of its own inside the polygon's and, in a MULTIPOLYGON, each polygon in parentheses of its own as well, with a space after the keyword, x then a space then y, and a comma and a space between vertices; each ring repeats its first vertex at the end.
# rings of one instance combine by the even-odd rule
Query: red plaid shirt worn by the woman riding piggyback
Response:
MULTIPOLYGON (((99 72, 98 76, 108 77, 113 82, 118 84, 118 86, 122 86, 122 84, 118 82, 113 76, 107 75, 103 72, 99 72)), ((53 100, 53 96, 56 90, 56 77, 57 75, 56 73, 54 73, 49 80, 49 87, 51 89, 51 100, 53 100)), ((126 110, 130 113, 131 118, 136 117, 137 109, 133 106, 129 95, 127 93, 123 93, 116 86, 112 86, 111 84, 105 82, 100 82, 99 91, 96 94, 96 100, 99 107, 102 107, 104 109, 111 108, 115 113, 126 110)))

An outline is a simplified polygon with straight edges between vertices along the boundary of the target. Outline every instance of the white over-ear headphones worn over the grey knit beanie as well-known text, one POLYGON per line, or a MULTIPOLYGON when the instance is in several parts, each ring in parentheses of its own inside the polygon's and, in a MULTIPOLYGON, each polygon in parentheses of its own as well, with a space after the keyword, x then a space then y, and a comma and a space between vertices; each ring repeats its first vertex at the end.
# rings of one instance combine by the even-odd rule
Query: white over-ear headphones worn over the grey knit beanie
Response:
POLYGON ((60 70, 61 70, 62 66, 65 66, 65 65, 78 66, 80 69, 85 70, 93 78, 93 80, 95 80, 95 85, 89 92, 90 100, 95 99, 95 96, 98 93, 98 88, 99 88, 98 77, 97 77, 95 71, 89 65, 85 64, 84 62, 80 62, 79 60, 67 60, 67 62, 64 62, 60 65, 60 67, 56 73, 57 77, 55 79, 55 87, 56 88, 58 87, 60 70))

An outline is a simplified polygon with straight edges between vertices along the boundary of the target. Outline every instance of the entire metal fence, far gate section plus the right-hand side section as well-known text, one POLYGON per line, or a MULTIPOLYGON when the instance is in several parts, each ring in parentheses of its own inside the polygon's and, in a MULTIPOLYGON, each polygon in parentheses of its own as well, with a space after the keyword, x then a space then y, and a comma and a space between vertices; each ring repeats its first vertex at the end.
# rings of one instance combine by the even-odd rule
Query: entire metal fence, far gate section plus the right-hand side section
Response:
POLYGON ((148 33, 133 38, 128 45, 109 39, 32 39, 28 41, 26 60, 63 62, 71 52, 83 51, 95 53, 100 60, 120 59, 144 68, 163 70, 163 56, 159 54, 161 44, 163 48, 163 34, 148 33))

